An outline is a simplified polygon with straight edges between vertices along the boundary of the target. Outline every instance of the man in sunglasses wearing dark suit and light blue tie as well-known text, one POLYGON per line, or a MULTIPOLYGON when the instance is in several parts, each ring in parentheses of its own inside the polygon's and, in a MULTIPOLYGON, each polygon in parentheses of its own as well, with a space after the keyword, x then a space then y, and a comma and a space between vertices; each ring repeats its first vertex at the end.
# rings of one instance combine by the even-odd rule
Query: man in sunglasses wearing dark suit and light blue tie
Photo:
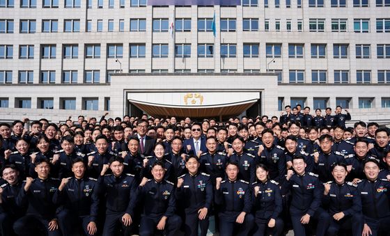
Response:
POLYGON ((194 123, 191 127, 191 139, 186 139, 183 143, 188 155, 200 156, 202 153, 207 152, 206 141, 201 137, 202 125, 201 123, 194 123))

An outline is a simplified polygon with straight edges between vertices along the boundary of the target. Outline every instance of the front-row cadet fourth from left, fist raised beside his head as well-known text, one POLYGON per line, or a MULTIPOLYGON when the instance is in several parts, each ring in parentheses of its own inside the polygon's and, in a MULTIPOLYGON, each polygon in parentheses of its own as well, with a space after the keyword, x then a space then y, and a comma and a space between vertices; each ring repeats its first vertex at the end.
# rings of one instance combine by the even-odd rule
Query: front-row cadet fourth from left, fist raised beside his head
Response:
POLYGON ((130 235, 138 186, 134 175, 123 173, 123 169, 123 158, 111 157, 109 164, 103 165, 98 179, 99 189, 107 198, 103 235, 115 235, 118 224, 123 235, 130 235), (112 174, 104 175, 109 168, 112 174))

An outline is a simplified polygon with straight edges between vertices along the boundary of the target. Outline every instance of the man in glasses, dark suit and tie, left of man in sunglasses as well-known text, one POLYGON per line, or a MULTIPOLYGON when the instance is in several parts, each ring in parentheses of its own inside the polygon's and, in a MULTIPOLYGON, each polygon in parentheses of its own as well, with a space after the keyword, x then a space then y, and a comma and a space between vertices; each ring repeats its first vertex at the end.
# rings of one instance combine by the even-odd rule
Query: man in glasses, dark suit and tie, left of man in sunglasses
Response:
POLYGON ((151 138, 146 135, 148 131, 148 120, 139 120, 137 123, 137 134, 134 134, 134 137, 139 139, 139 154, 143 155, 143 157, 153 155, 153 147, 155 146, 156 139, 151 138))

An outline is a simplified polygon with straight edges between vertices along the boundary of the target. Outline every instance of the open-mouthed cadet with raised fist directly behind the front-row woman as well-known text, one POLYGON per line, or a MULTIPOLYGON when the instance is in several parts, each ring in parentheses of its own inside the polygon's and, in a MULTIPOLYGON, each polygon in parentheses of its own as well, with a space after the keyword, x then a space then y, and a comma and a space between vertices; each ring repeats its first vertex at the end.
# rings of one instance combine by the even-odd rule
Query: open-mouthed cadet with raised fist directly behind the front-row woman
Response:
POLYGON ((263 145, 258 148, 257 164, 265 164, 270 170, 270 179, 278 182, 286 174, 286 155, 284 148, 274 145, 274 132, 271 129, 264 129, 261 132, 263 145))

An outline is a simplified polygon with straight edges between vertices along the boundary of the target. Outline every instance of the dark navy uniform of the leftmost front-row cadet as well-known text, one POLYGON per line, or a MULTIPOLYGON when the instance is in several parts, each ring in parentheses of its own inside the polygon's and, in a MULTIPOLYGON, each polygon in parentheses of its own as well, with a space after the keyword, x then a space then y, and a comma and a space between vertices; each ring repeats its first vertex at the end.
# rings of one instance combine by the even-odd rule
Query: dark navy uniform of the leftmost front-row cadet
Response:
POLYGON ((13 223, 24 216, 25 210, 16 205, 16 197, 22 187, 22 182, 17 184, 2 184, 3 194, 1 194, 0 203, 0 233, 1 235, 15 235, 13 232, 13 223))

